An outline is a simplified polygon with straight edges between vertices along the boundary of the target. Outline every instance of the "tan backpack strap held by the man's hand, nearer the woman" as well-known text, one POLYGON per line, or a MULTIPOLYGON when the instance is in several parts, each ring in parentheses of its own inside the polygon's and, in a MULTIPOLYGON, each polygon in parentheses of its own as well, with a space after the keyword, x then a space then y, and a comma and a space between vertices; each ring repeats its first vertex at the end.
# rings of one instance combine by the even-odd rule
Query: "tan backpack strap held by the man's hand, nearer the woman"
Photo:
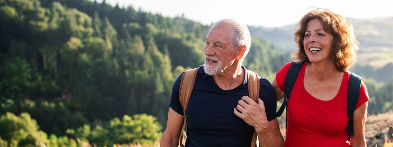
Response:
MULTIPOLYGON (((257 73, 247 70, 248 81, 248 95, 251 99, 258 103, 259 99, 259 76, 257 73)), ((257 143, 257 132, 254 129, 254 134, 251 140, 251 147, 255 147, 257 143)))

